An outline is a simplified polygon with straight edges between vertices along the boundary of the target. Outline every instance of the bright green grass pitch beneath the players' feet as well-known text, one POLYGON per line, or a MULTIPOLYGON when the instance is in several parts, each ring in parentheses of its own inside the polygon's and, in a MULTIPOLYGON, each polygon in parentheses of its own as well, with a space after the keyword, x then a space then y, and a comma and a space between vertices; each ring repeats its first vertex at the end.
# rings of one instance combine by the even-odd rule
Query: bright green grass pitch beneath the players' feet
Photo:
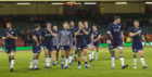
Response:
POLYGON ((129 65, 126 69, 121 68, 119 57, 115 61, 115 69, 111 68, 107 48, 100 49, 99 60, 89 63, 91 68, 84 68, 84 62, 81 62, 81 69, 77 68, 77 62, 74 62, 68 69, 62 69, 60 65, 46 69, 45 55, 41 52, 39 59, 40 70, 28 70, 31 55, 31 51, 16 52, 14 72, 10 73, 8 55, 4 52, 0 52, 0 77, 152 77, 152 47, 144 47, 144 59, 149 66, 147 69, 142 69, 139 55, 137 61, 138 68, 132 68, 132 52, 130 47, 124 48, 125 64, 129 65))

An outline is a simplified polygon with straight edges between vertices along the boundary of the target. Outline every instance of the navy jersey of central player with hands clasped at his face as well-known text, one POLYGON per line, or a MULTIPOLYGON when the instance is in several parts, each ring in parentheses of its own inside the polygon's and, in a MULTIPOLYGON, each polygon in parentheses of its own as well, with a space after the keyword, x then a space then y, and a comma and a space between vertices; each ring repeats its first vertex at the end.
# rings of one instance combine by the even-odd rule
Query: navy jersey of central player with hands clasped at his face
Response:
MULTIPOLYGON (((78 31, 78 28, 76 28, 76 31, 78 31)), ((84 43, 86 44, 86 35, 83 33, 83 30, 80 30, 79 35, 76 36, 76 43, 84 43)))

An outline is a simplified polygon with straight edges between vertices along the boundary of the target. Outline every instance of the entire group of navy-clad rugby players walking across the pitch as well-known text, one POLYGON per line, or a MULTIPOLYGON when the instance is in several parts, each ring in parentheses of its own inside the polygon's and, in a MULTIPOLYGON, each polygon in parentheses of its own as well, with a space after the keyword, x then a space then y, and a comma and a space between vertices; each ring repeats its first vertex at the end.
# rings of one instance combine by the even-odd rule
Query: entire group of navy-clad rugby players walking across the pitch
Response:
MULTIPOLYGON (((129 36, 132 38, 134 52, 134 68, 137 68, 137 53, 140 55, 140 61, 143 68, 147 68, 143 57, 143 46, 145 42, 142 28, 139 27, 139 21, 134 21, 134 26, 130 29, 129 36)), ((12 28, 11 22, 7 23, 7 29, 3 31, 2 40, 5 44, 5 52, 9 55, 10 72, 14 70, 15 40, 17 33, 12 28)), ((63 29, 58 29, 58 26, 52 26, 51 22, 46 23, 46 28, 40 28, 40 24, 35 24, 33 30, 33 57, 30 59, 29 70, 39 69, 38 60, 41 51, 41 46, 45 52, 46 68, 53 65, 61 65, 61 68, 68 68, 74 61, 78 62, 78 68, 91 67, 88 62, 98 60, 99 56, 99 40, 102 38, 100 29, 96 25, 89 26, 88 22, 79 21, 78 26, 75 26, 74 21, 63 22, 63 29), (41 43, 42 42, 42 43, 41 43), (59 55, 59 52, 61 54, 59 55), (96 53, 96 57, 94 57, 96 53), (85 66, 81 66, 81 55, 85 61, 85 66), (60 57, 61 56, 61 57, 60 57), (59 60, 61 59, 61 63, 59 60)), ((128 67, 125 64, 123 53, 124 34, 121 25, 121 17, 115 16, 106 31, 106 43, 111 54, 112 68, 115 68, 115 50, 118 49, 122 68, 128 67)))

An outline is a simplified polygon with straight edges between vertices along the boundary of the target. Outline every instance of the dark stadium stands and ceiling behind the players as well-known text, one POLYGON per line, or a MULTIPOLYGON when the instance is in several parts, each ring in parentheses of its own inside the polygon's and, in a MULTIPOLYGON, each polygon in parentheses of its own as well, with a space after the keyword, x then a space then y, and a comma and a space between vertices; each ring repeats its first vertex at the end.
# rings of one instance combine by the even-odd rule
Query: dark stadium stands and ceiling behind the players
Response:
POLYGON ((105 43, 104 34, 114 15, 122 17, 126 42, 130 42, 127 38, 134 20, 140 21, 147 41, 149 43, 152 41, 152 3, 150 0, 0 1, 0 37, 5 23, 12 22, 18 34, 17 47, 29 47, 31 41, 26 37, 30 37, 34 24, 40 23, 41 27, 45 27, 47 21, 51 21, 52 26, 56 25, 59 28, 62 27, 63 21, 75 21, 75 26, 78 21, 88 21, 89 26, 98 26, 103 36, 100 41, 105 43), (122 4, 116 4, 116 2, 122 2, 122 4))

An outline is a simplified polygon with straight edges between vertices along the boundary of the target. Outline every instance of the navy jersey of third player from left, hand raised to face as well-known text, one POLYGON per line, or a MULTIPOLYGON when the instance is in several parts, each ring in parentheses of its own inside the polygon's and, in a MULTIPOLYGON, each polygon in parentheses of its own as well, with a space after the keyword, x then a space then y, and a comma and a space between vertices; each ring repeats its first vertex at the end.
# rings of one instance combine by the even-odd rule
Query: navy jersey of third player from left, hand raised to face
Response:
POLYGON ((43 37, 43 43, 52 43, 53 36, 50 34, 50 31, 47 28, 43 28, 41 30, 41 36, 43 37))

